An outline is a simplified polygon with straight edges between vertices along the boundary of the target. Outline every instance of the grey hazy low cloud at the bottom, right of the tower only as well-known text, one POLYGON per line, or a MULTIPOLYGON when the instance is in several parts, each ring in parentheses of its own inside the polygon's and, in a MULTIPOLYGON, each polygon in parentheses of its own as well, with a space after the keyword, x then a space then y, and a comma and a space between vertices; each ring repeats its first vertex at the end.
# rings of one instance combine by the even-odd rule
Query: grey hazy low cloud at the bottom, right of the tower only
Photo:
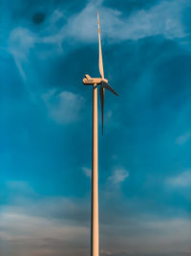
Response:
POLYGON ((189 255, 190 220, 130 218, 101 228, 104 249, 112 255, 189 255), (128 226, 128 227, 127 227, 128 226), (111 231, 113 230, 113 231, 111 231), (114 232, 111 235, 111 232, 114 232), (123 254, 122 254, 123 253, 123 254))

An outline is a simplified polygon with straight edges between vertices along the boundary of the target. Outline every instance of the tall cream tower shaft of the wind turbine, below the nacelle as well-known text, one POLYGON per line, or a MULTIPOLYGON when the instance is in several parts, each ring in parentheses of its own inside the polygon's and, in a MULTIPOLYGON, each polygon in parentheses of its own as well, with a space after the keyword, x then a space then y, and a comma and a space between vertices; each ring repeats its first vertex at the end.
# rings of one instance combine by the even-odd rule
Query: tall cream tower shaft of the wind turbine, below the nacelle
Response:
POLYGON ((93 137, 92 137, 92 209, 91 256, 99 255, 98 245, 98 151, 97 151, 97 85, 93 86, 93 137))

